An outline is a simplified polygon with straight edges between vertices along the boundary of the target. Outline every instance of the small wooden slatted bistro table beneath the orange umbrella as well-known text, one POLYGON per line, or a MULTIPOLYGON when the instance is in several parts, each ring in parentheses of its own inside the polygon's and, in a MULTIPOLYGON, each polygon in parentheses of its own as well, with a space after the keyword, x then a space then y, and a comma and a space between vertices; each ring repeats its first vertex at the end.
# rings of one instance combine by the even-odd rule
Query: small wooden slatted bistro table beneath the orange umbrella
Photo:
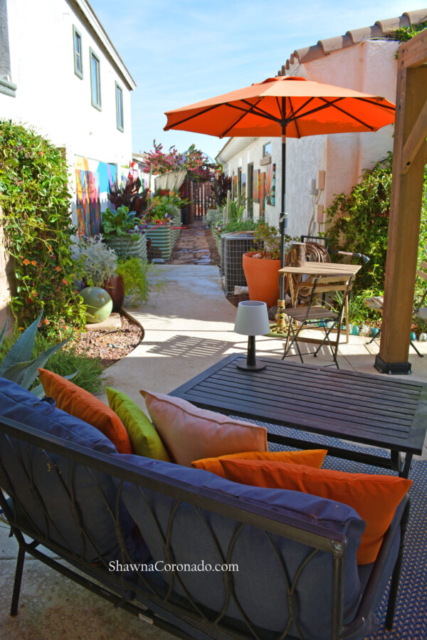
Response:
MULTIPOLYGON (((316 276, 348 276, 347 281, 360 271, 362 265, 359 264, 341 264, 332 262, 310 262, 307 261, 300 267, 285 266, 279 269, 281 277, 290 276, 289 288, 290 298, 292 300, 292 307, 296 307, 298 303, 298 293, 301 288, 304 287, 304 280, 302 276, 310 276, 310 280, 314 280, 316 276), (292 278, 295 276, 295 278, 292 278)), ((345 292, 346 286, 330 285, 330 290, 345 292)), ((345 317, 345 336, 346 342, 349 341, 349 303, 348 298, 344 304, 344 317, 345 317)), ((297 340, 302 342, 314 342, 320 344, 322 340, 317 338, 305 337, 304 335, 298 336, 297 340)), ((334 344, 334 342, 332 342, 334 344)))

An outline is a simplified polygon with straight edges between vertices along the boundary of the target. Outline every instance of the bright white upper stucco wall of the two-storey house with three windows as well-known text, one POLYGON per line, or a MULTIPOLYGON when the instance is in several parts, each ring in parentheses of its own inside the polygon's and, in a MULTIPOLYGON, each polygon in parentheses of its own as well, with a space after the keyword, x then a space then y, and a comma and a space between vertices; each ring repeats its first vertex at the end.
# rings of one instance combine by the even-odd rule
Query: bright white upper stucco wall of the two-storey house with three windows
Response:
MULTIPOLYGON (((11 80, 0 117, 34 127, 56 146, 101 162, 132 159, 130 89, 78 8, 65 0, 8 0, 11 80), (74 73, 73 25, 82 36, 83 79, 74 73), (100 59, 101 105, 91 103, 90 47, 100 59), (115 81, 123 91, 124 132, 117 129, 115 81)), ((73 169, 73 166, 70 166, 73 169)))

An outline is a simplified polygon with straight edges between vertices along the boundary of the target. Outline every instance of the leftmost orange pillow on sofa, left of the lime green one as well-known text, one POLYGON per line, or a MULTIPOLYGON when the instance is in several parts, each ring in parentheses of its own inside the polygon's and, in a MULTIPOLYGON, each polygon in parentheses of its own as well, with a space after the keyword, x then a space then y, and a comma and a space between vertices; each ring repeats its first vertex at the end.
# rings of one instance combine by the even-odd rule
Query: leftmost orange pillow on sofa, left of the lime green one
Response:
POLYGON ((133 453, 125 426, 105 402, 56 373, 38 369, 38 374, 46 396, 55 398, 58 409, 102 431, 119 453, 133 453))

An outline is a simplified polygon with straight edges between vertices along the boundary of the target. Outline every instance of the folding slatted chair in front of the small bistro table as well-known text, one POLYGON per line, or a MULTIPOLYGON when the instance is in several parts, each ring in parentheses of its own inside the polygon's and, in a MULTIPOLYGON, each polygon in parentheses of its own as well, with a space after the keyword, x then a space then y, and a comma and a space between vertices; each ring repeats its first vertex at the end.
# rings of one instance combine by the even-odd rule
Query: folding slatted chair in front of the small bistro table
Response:
POLYGON ((292 345, 294 345, 295 343, 297 352, 300 355, 300 360, 302 363, 304 363, 304 360, 302 360, 300 345, 298 345, 297 341, 297 337, 300 334, 300 331, 307 328, 322 328, 325 330, 325 337, 320 341, 320 345, 313 353, 313 356, 317 357, 318 352, 325 344, 325 342, 327 342, 327 345, 330 347, 330 350, 332 352, 334 364, 336 364, 337 369, 339 369, 339 365, 337 362, 339 335, 341 334, 345 302, 349 295, 349 290, 352 287, 352 280, 353 276, 350 276, 349 274, 341 274, 339 276, 317 276, 314 281, 310 283, 304 283, 305 287, 311 288, 310 301, 308 305, 305 307, 292 307, 285 309, 285 314, 288 315, 289 328, 282 360, 288 355, 292 345), (339 305, 339 310, 332 310, 330 306, 327 305, 327 303, 323 303, 322 305, 316 303, 318 294, 323 294, 327 291, 342 290, 343 286, 344 295, 342 296, 342 302, 339 305), (296 329, 294 327, 295 324, 297 324, 296 329), (327 324, 329 326, 327 326, 327 324), (337 340, 331 342, 330 333, 335 328, 337 329, 337 340))

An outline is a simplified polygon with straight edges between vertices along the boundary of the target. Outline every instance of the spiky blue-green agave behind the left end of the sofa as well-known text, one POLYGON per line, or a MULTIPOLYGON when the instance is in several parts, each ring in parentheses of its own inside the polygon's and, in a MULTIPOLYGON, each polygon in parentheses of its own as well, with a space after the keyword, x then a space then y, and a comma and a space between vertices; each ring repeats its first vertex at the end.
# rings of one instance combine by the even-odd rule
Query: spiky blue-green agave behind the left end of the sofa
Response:
MULTIPOLYGON (((0 363, 0 376, 20 384, 24 389, 29 389, 33 384, 34 380, 38 376, 38 367, 43 368, 49 358, 56 353, 58 349, 66 345, 73 335, 73 332, 71 332, 68 338, 63 340, 63 342, 60 342, 59 345, 53 345, 53 347, 49 347, 36 358, 31 359, 31 356, 33 355, 34 342, 36 341, 38 324, 41 321, 42 315, 43 311, 38 316, 37 320, 34 320, 34 322, 26 328, 23 334, 19 336, 18 340, 16 340, 9 352, 4 356, 3 361, 0 363)), ((0 347, 6 333, 6 328, 7 320, 0 332, 0 347)), ((67 378, 70 379, 77 374, 78 371, 67 376, 67 378)), ((39 384, 35 389, 31 389, 31 392, 33 392, 37 397, 42 397, 44 395, 41 384, 39 384)))

